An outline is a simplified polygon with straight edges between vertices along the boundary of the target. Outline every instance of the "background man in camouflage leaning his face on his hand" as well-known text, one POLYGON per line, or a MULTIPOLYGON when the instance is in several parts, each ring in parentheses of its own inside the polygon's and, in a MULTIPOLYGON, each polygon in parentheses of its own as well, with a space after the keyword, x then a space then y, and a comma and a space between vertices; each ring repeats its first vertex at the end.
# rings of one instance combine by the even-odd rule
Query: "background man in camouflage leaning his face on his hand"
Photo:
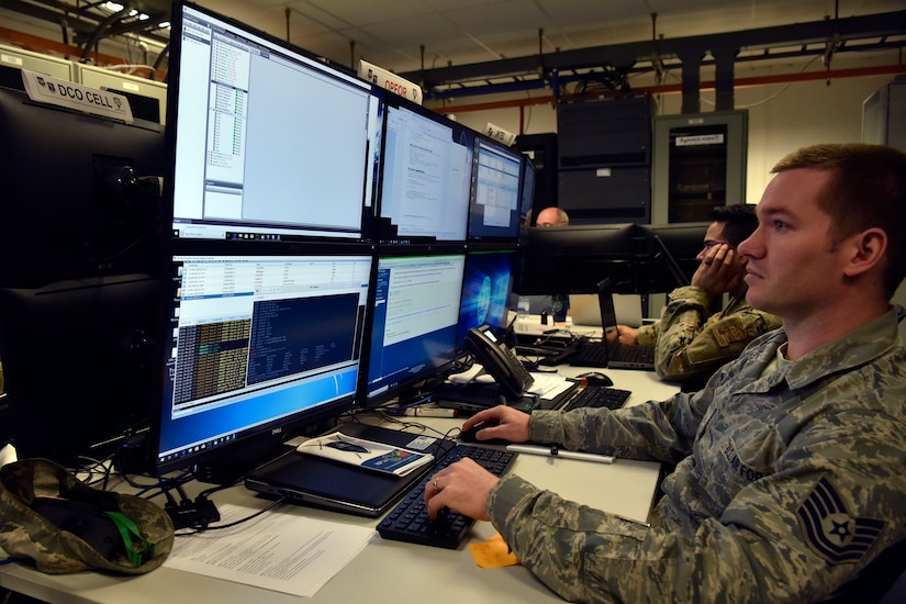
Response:
POLYGON ((754 208, 715 208, 692 284, 670 292, 660 321, 638 329, 617 325, 620 343, 655 346, 661 379, 698 388, 752 339, 780 327, 776 316, 746 302, 746 260, 736 248, 758 226, 754 208), (727 305, 711 314, 714 299, 725 293, 730 297, 727 305))

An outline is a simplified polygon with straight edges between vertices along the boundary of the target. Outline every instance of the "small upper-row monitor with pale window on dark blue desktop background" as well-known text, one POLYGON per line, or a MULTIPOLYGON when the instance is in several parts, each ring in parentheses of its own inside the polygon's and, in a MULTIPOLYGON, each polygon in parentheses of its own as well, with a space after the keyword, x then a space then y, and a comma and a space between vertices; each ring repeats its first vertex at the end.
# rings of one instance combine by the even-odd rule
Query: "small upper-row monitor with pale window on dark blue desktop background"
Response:
POLYGON ((519 236, 523 159, 501 143, 476 135, 469 241, 515 242, 519 236))

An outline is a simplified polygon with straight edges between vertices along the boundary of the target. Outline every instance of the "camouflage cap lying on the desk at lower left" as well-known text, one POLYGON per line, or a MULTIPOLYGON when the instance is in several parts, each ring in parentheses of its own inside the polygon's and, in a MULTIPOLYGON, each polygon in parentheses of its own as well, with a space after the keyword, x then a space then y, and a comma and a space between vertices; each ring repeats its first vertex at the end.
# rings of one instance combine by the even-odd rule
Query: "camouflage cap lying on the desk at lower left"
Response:
POLYGON ((82 539, 60 530, 29 507, 35 496, 65 497, 66 493, 85 489, 100 492, 46 459, 23 459, 0 468, 0 548, 53 574, 92 569, 143 574, 164 563, 172 549, 174 525, 169 515, 148 500, 112 494, 120 512, 155 546, 154 558, 137 568, 126 557, 125 548, 107 559, 82 539))

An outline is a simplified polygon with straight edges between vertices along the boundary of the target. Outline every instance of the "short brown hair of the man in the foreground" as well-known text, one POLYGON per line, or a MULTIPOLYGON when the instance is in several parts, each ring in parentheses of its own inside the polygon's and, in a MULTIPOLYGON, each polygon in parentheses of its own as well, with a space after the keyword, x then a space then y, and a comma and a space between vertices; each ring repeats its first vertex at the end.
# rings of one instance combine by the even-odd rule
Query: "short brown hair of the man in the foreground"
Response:
POLYGON ((906 154, 884 145, 824 144, 795 150, 771 170, 831 172, 818 206, 830 214, 831 242, 877 227, 887 234, 884 289, 892 298, 906 277, 906 154))

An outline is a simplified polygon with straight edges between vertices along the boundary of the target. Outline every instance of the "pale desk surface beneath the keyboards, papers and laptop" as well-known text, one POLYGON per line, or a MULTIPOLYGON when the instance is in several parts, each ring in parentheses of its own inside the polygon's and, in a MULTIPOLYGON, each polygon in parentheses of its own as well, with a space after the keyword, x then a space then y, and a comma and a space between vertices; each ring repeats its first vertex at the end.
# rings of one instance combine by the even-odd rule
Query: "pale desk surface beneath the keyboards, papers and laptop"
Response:
MULTIPOLYGON (((582 368, 561 368, 575 376, 582 368)), ((649 399, 665 399, 676 391, 675 384, 660 382, 651 372, 606 370, 615 388, 631 390, 628 404, 649 399)), ((418 418, 441 430, 461 420, 418 418)), ((522 455, 512 471, 538 486, 551 489, 582 503, 627 517, 646 516, 657 486, 659 467, 645 461, 618 460, 613 465, 592 463, 522 455), (607 485, 618 484, 619 489, 607 485)), ((268 502, 242 486, 215 494, 215 503, 264 507, 268 502)), ((374 527, 377 518, 360 518, 333 512, 287 504, 279 512, 304 518, 342 522, 374 527)), ((490 523, 479 522, 468 543, 494 536, 490 523)), ((447 550, 388 541, 377 537, 348 566, 334 577, 313 602, 393 602, 430 594, 433 604, 444 602, 560 602, 523 567, 480 569, 468 547, 447 550)), ((298 602, 287 594, 231 583, 188 572, 161 568, 141 577, 114 577, 98 572, 51 575, 23 564, 0 567, 0 586, 51 603, 108 602, 135 604, 168 602, 237 602, 278 604, 298 602)))

